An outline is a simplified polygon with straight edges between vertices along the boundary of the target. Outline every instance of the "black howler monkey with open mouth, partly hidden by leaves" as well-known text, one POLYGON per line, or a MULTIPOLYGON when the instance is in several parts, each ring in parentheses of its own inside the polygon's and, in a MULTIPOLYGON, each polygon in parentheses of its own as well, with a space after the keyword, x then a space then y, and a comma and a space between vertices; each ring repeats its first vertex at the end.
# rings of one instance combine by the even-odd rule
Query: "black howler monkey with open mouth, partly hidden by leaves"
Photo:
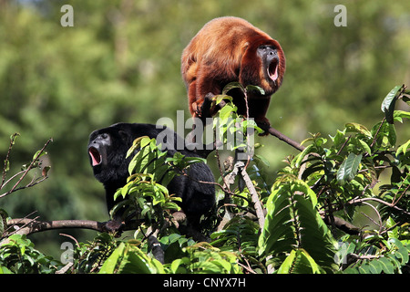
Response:
MULTIPOLYGON (((174 131, 165 127, 157 129, 156 125, 151 124, 117 123, 108 128, 95 130, 89 136, 90 163, 95 177, 104 184, 106 189, 108 211, 115 204, 114 193, 127 183, 128 163, 133 156, 126 159, 127 151, 132 142, 142 136, 156 138, 157 142, 162 141, 162 150, 167 150, 169 156, 173 156, 176 152, 177 145, 184 145, 183 139, 174 131)), ((199 157, 197 153, 185 148, 178 151, 187 157, 199 157)), ((200 162, 190 166, 188 177, 178 175, 167 186, 169 193, 175 193, 182 198, 179 205, 187 215, 190 224, 198 224, 200 216, 208 212, 215 203, 213 182, 214 177, 210 168, 200 162), (199 183, 199 181, 211 183, 199 183)), ((118 216, 120 217, 120 214, 117 214, 114 220, 120 220, 118 216)))

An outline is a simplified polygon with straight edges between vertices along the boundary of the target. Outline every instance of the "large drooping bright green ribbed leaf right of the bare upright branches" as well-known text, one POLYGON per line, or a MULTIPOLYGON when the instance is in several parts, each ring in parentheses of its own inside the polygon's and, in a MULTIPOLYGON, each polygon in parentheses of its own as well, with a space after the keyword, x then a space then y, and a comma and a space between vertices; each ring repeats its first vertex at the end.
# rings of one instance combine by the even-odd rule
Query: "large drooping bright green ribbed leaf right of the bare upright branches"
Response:
POLYGON ((282 183, 266 203, 259 254, 280 255, 302 248, 325 269, 334 264, 333 237, 315 209, 316 193, 302 181, 282 183))

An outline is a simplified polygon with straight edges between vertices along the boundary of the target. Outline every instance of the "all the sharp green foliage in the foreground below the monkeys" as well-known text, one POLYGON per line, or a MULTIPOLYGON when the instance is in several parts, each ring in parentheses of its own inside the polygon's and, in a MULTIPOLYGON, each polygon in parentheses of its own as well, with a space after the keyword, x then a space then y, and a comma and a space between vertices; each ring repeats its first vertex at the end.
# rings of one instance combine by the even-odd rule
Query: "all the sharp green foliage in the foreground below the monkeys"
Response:
MULTIPOLYGON (((242 90, 246 94, 248 89, 242 90)), ((180 199, 166 188, 175 175, 187 175, 192 163, 204 160, 179 152, 169 157, 154 139, 138 138, 128 151, 128 156, 134 155, 128 183, 115 194, 125 199, 116 208, 126 206, 128 218, 141 223, 135 239, 100 234, 93 242, 79 243, 68 272, 408 273, 410 141, 396 146, 395 123, 403 123, 410 115, 395 110, 395 104, 410 103, 409 95, 405 86, 392 89, 383 101, 384 119, 370 130, 350 122, 330 139, 312 135, 304 141, 303 151, 287 157, 287 166, 271 186, 258 167, 263 160, 249 162, 247 171, 266 209, 263 225, 254 218, 258 214, 253 191, 241 185, 244 177, 240 174, 236 187, 227 183, 234 172, 227 169, 217 183, 222 195, 214 214, 202 221, 208 224, 209 242, 179 233, 182 223, 175 223, 172 214, 179 210, 176 202, 180 199), (374 212, 366 214, 371 226, 349 223, 364 212, 361 206, 374 212), (159 240, 156 248, 160 246, 163 263, 149 244, 153 234, 159 240)), ((226 96, 215 100, 222 98, 226 96)), ((230 103, 226 107, 229 115, 226 110, 220 110, 220 115, 236 122, 225 123, 223 132, 237 130, 249 138, 246 131, 255 126, 239 125, 235 107, 230 103)), ((5 225, 7 214, 3 214, 5 225)), ((62 266, 36 251, 25 236, 11 235, 5 240, 0 248, 4 273, 55 273, 62 266)))

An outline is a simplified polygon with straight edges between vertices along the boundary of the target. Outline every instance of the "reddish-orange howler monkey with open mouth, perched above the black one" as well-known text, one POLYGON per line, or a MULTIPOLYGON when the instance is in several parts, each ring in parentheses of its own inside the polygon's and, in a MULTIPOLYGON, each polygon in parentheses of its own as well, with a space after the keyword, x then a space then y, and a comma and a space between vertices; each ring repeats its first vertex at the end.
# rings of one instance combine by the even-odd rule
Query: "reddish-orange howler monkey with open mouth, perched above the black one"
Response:
MULTIPOLYGON (((249 117, 263 128, 269 128, 266 119, 272 94, 282 84, 285 57, 279 43, 238 17, 220 17, 200 29, 185 47, 181 57, 181 73, 188 90, 192 117, 203 117, 202 103, 207 94, 218 95, 230 82, 243 87, 255 85, 263 89, 248 92, 249 117)), ((240 89, 229 95, 246 116, 246 103, 240 89)), ((217 110, 211 109, 210 116, 217 110)), ((206 117, 205 117, 206 118, 206 117)))

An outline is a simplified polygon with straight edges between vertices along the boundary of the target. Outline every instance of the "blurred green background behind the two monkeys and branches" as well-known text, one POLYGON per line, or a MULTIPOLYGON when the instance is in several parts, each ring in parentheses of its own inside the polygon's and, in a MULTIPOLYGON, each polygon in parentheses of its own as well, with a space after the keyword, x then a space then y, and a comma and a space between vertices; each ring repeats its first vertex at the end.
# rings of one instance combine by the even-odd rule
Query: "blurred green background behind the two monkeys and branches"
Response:
MULTIPOLYGON (((188 117, 180 54, 217 16, 243 17, 281 43, 287 68, 267 116, 296 141, 350 121, 371 127, 383 117, 387 92, 410 85, 407 0, 0 0, 0 155, 9 136, 21 133, 13 173, 54 139, 49 179, 1 199, 0 207, 12 217, 36 210, 42 220, 107 220, 104 190, 87 158, 89 133, 118 121, 176 120, 177 110, 188 117), (74 8, 73 27, 60 25, 65 4, 74 8), (333 24, 338 4, 347 8, 345 27, 333 24)), ((399 137, 407 140, 408 128, 399 137)), ((259 141, 272 183, 295 151, 273 137, 259 141)), ((67 238, 57 234, 32 239, 37 247, 51 239, 58 250, 67 238)))

